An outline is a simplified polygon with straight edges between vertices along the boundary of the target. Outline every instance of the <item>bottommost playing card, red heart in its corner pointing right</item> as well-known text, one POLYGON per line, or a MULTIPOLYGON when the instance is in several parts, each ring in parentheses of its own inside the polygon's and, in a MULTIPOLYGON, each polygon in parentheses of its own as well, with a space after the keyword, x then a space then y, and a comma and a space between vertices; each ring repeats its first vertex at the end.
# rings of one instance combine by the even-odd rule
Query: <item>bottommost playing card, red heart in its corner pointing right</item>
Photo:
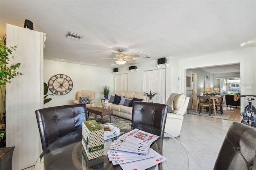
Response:
POLYGON ((126 162, 126 163, 120 164, 121 168, 123 170, 145 170, 147 168, 150 168, 166 160, 165 157, 163 157, 161 154, 159 154, 152 148, 149 148, 148 152, 154 153, 155 156, 152 158, 144 159, 144 160, 138 160, 134 162, 126 162))

